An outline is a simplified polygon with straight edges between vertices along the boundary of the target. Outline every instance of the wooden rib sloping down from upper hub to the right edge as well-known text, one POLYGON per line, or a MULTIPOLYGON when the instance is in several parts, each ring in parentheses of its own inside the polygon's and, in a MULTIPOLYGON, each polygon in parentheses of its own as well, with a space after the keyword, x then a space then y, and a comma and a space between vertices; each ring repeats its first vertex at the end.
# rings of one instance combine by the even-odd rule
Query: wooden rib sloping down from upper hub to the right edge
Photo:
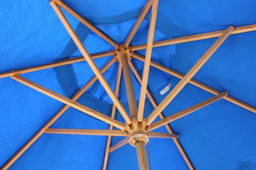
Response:
MULTIPOLYGON (((134 53, 133 57, 138 59, 138 60, 140 60, 140 61, 142 61, 142 62, 145 61, 144 57, 139 55, 139 54, 134 53)), ((183 74, 178 73, 177 71, 174 71, 174 70, 172 70, 170 68, 167 68, 167 67, 165 67, 163 65, 160 65, 157 62, 151 61, 150 65, 155 67, 155 68, 158 68, 158 69, 160 69, 160 70, 162 70, 162 71, 164 71, 164 72, 166 72, 168 74, 171 74, 172 76, 177 77, 178 79, 183 79, 183 77, 185 76, 183 74)), ((211 88, 211 87, 209 87, 207 85, 204 85, 203 83, 198 82, 198 81, 196 81, 194 79, 189 80, 189 83, 192 84, 192 85, 195 85, 196 87, 201 88, 201 89, 203 89, 205 91, 208 91, 211 94, 215 94, 215 95, 221 94, 220 91, 217 91, 216 89, 211 88)), ((244 109, 247 109, 248 111, 256 113, 256 108, 255 107, 253 107, 251 105, 248 105, 247 103, 244 103, 244 102, 242 102, 242 101, 240 101, 238 99, 235 99, 235 98, 233 98, 231 96, 226 96, 223 99, 225 99, 225 100, 227 100, 227 101, 229 101, 229 102, 231 102, 231 103, 233 103, 235 105, 239 105, 240 107, 242 107, 244 109)))

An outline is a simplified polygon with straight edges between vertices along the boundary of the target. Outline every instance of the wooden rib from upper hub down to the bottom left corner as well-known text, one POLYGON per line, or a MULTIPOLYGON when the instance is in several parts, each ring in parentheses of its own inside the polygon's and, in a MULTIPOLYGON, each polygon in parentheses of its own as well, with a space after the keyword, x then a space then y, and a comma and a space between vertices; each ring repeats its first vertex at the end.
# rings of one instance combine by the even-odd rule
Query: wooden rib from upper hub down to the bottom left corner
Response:
MULTIPOLYGON (((116 59, 111 59, 102 69, 104 73, 115 62, 116 59)), ((72 100, 76 101, 84 92, 97 80, 94 76, 91 78, 73 97, 72 100)), ((69 105, 64 105, 42 128, 39 130, 14 156, 12 156, 6 164, 3 165, 1 170, 7 170, 44 132, 47 130, 67 109, 69 105)))

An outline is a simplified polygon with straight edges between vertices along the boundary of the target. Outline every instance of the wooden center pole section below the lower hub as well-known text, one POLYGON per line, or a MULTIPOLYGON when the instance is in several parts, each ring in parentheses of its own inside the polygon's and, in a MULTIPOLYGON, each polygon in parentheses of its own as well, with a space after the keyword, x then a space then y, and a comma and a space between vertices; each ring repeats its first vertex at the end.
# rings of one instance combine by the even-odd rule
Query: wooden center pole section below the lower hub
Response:
POLYGON ((139 141, 137 144, 135 144, 135 147, 137 151, 140 170, 149 170, 144 142, 139 141))

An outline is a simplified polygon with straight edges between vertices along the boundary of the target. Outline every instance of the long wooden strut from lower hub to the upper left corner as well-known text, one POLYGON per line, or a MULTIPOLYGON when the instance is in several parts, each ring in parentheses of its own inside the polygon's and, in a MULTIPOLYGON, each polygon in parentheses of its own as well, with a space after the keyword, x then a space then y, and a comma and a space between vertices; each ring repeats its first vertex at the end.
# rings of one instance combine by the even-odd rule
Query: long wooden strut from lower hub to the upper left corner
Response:
POLYGON ((52 8, 54 9, 55 13, 58 15, 59 19, 61 20, 64 27, 67 29, 68 33, 70 34, 73 41, 76 43, 77 47, 81 51, 84 58, 87 60, 88 64, 90 65, 90 68, 92 68, 94 74, 98 77, 99 81, 101 82, 103 88, 106 90, 110 98, 112 99, 113 103, 116 105, 122 116, 124 117, 125 121, 128 125, 131 125, 131 118, 128 115, 128 113, 125 111, 125 108, 122 106, 121 102, 117 99, 116 95, 114 94, 113 90, 111 89, 110 85, 106 81, 106 79, 103 77, 103 75, 100 73, 99 68, 96 66, 95 62, 93 62, 93 59, 90 57, 90 54, 87 52, 87 50, 84 48, 83 43, 77 36, 76 32, 71 27, 70 23, 67 21, 67 18, 64 16, 63 12, 59 8, 59 6, 53 2, 50 1, 50 4, 52 8))

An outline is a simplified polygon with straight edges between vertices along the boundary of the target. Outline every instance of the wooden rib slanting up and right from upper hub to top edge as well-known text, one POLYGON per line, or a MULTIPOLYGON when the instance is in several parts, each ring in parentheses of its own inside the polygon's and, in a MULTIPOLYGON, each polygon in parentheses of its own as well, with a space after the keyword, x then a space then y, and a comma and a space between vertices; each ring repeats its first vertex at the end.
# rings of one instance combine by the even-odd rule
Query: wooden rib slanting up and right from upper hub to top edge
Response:
POLYGON ((132 38, 134 37, 134 34, 138 30, 138 28, 139 28, 140 24, 142 23, 144 17, 148 13, 148 10, 150 9, 152 3, 153 3, 153 0, 147 0, 145 6, 143 7, 142 11, 140 12, 139 17, 137 18, 136 22, 134 23, 134 26, 131 28, 131 32, 129 33, 128 37, 125 40, 125 43, 124 43, 125 48, 127 48, 128 45, 130 44, 132 38))

